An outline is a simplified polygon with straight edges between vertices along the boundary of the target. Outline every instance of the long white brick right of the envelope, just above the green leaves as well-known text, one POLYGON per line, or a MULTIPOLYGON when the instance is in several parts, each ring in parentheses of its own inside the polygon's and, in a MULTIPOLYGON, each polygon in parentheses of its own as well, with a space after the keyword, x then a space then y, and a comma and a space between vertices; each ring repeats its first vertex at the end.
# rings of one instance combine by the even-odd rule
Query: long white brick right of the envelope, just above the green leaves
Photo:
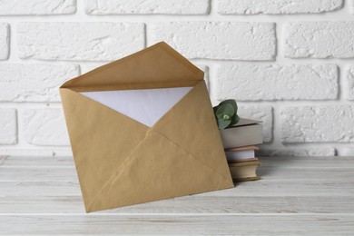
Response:
POLYGON ((227 64, 217 71, 219 101, 321 100, 338 94, 335 64, 227 64))

